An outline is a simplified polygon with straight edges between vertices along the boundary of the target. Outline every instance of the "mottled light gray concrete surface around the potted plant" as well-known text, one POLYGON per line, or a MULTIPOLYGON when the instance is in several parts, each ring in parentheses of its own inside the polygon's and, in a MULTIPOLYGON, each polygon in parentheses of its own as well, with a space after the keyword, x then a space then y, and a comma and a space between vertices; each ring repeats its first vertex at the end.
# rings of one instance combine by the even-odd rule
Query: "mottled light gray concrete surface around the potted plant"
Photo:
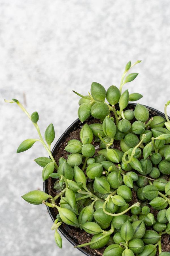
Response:
MULTIPOLYGON (((44 205, 21 195, 43 189, 33 160, 48 156, 40 143, 16 154, 37 131, 16 104, 39 113, 44 134, 52 122, 57 139, 77 118, 78 96, 93 81, 119 86, 126 63, 138 77, 124 89, 139 92, 145 104, 163 111, 170 100, 169 0, 0 0, 0 243, 1 255, 83 255, 63 238, 54 241, 44 205)), ((170 114, 170 108, 169 108, 170 114)))

